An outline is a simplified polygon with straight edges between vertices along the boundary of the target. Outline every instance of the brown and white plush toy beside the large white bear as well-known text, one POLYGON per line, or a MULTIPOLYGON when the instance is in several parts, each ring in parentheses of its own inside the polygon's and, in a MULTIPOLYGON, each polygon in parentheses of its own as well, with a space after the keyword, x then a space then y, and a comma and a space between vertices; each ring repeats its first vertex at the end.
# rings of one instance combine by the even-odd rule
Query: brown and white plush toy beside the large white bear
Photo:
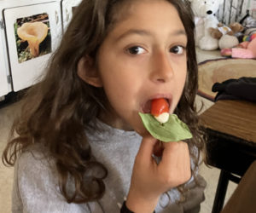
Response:
POLYGON ((243 26, 237 22, 230 24, 230 26, 219 23, 217 28, 210 27, 209 33, 213 38, 218 39, 219 49, 233 48, 239 44, 237 37, 243 29, 243 26))

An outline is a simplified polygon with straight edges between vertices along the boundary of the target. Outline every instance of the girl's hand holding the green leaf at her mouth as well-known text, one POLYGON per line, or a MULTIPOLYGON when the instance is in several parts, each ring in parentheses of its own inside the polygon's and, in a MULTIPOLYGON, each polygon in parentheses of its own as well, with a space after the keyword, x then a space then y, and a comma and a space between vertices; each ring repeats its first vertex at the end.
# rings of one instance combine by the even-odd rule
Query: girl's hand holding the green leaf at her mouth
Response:
POLYGON ((164 142, 159 152, 158 143, 151 136, 145 137, 137 153, 126 201, 134 212, 153 212, 162 193, 189 181, 191 176, 188 145, 183 141, 164 142), (154 153, 162 153, 159 164, 152 157, 154 153))

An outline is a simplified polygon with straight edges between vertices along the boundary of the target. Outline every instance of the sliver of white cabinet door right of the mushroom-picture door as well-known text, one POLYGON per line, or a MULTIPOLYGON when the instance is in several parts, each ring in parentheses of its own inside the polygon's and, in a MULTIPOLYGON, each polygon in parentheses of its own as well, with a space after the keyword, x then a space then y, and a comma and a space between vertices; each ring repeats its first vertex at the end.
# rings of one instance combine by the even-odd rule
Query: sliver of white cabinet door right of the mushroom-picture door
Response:
POLYGON ((62 20, 63 20, 63 29, 67 28, 70 20, 73 17, 73 11, 81 3, 82 0, 61 0, 62 8, 62 20))

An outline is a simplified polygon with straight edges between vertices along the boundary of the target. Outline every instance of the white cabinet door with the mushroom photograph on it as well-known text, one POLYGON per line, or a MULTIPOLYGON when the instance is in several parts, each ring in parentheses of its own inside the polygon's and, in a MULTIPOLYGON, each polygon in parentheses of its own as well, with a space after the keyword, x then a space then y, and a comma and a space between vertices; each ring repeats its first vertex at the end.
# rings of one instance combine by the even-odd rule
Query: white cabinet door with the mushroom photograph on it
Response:
POLYGON ((44 76, 49 56, 61 38, 59 2, 24 5, 3 10, 9 64, 15 91, 44 76))

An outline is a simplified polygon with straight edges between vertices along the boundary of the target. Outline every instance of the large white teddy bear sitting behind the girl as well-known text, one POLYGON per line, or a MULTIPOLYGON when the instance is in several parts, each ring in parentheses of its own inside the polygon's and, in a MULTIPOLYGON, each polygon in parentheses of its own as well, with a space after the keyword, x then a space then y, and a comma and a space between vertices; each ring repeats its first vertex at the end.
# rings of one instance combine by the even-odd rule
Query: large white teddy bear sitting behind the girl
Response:
POLYGON ((213 38, 209 27, 218 27, 217 13, 219 5, 224 0, 189 0, 191 8, 195 14, 195 45, 200 49, 218 49, 218 39, 213 38))

